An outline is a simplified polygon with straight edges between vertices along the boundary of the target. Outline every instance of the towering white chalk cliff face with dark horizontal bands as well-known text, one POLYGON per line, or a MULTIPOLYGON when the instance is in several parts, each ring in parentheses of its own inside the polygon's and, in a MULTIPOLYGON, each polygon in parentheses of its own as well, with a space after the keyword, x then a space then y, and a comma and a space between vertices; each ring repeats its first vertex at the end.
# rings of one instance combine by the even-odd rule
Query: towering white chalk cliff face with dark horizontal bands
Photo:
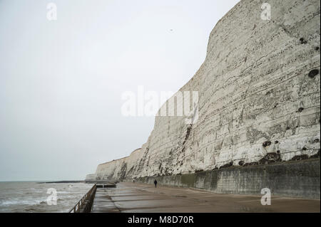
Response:
MULTIPOLYGON (((320 1, 243 0, 210 33, 205 62, 180 91, 199 119, 156 117, 141 149, 88 179, 186 174, 305 159, 320 152, 320 1)), ((164 104, 166 105, 166 104, 164 104)))

